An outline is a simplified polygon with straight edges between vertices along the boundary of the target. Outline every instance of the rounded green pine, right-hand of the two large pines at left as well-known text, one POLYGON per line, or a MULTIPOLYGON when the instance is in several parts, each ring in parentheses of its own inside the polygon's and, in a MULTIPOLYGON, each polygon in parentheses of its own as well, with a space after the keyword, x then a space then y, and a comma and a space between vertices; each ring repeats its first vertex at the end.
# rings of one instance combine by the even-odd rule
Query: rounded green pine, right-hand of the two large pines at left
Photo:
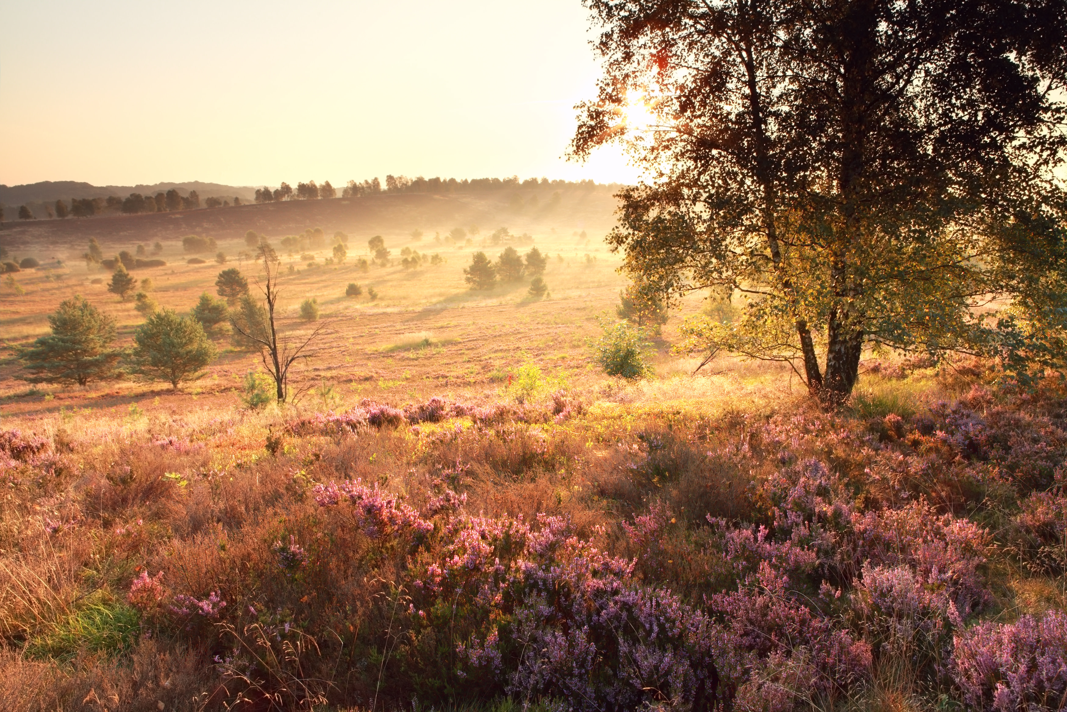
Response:
POLYGON ((200 321, 169 308, 150 315, 133 333, 133 342, 130 373, 166 381, 174 389, 203 376, 201 369, 218 355, 200 321))

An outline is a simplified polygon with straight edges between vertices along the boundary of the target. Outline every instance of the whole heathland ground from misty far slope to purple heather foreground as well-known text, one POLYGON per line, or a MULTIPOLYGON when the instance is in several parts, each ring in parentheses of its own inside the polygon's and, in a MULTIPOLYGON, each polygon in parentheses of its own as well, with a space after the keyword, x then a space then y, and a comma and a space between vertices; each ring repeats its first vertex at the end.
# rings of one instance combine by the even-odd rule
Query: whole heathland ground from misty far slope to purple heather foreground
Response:
POLYGON ((42 267, 0 286, 0 709, 1060 709, 1063 383, 871 353, 828 413, 782 365, 694 375, 670 347, 699 295, 648 379, 608 378, 612 190, 555 190, 5 224, 42 267), (345 264, 281 249, 315 227, 345 264), (498 227, 551 256, 550 295, 466 287, 498 227), (244 408, 259 357, 223 332, 177 391, 19 380, 74 294, 125 344, 143 321, 91 237, 161 242, 133 274, 185 313, 222 267, 181 238, 254 276, 248 230, 285 332, 325 327, 294 404, 244 408), (445 262, 363 271, 375 235, 445 262))

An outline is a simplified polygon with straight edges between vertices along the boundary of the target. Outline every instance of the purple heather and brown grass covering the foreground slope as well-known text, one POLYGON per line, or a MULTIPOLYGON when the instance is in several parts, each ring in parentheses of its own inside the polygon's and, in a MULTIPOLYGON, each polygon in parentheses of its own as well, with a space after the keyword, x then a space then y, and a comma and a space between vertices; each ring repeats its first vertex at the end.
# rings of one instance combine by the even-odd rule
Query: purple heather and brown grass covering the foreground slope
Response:
POLYGON ((1067 392, 965 370, 6 428, 0 700, 1060 709, 1067 392))

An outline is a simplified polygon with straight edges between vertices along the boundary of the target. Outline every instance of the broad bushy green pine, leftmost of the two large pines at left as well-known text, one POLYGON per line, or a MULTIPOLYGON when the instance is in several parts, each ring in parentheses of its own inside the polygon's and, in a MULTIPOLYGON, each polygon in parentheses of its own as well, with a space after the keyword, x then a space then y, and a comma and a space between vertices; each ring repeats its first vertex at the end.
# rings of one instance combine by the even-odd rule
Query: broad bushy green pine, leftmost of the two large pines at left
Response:
POLYGON ((77 383, 116 378, 122 352, 111 348, 115 321, 80 296, 60 303, 49 315, 51 334, 38 337, 22 351, 23 366, 33 376, 31 383, 77 383))

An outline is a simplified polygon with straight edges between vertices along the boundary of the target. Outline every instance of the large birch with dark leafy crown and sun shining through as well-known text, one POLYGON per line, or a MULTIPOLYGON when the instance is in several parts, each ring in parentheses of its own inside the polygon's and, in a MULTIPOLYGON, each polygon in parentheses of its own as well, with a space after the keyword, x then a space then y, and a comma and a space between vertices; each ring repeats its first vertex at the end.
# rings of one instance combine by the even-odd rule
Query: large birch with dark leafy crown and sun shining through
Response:
POLYGON ((587 4, 604 74, 572 153, 618 141, 649 175, 608 241, 670 298, 749 299, 697 343, 797 362, 828 405, 871 344, 1055 358, 1064 3, 587 4))

